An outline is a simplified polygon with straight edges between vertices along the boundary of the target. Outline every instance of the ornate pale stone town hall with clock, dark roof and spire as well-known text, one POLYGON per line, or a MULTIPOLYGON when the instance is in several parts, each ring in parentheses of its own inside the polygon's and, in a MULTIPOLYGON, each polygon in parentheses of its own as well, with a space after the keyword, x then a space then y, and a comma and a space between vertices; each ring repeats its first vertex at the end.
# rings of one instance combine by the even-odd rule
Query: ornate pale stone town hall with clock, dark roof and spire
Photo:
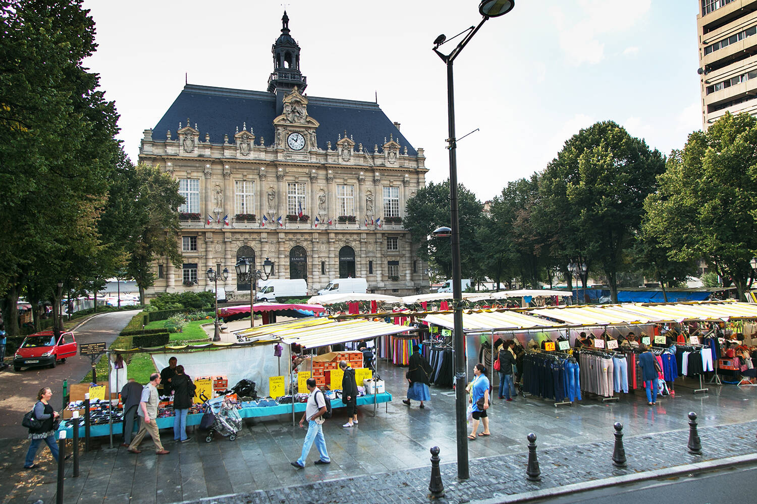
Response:
POLYGON ((428 292, 426 264, 402 227, 405 203, 425 186, 425 156, 378 104, 311 97, 300 47, 282 17, 266 91, 185 85, 142 138, 139 161, 179 181, 181 268, 155 264, 159 292, 212 287, 247 299, 238 258, 274 262, 275 279, 364 277, 369 292, 428 292))

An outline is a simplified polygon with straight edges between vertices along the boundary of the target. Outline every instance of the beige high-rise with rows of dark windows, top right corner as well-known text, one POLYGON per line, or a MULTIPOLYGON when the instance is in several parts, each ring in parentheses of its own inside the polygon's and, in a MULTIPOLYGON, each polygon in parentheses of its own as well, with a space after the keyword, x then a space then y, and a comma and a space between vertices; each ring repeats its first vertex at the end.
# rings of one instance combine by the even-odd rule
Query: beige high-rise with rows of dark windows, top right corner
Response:
POLYGON ((757 0, 696 0, 702 125, 757 116, 757 0))

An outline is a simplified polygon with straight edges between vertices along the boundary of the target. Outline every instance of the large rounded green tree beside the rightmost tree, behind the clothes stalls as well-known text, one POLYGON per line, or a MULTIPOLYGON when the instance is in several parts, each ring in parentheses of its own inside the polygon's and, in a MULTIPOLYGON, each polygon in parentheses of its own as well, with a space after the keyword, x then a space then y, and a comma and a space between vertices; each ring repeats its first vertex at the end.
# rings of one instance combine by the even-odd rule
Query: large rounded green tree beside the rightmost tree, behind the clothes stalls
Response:
MULTIPOLYGON (((643 201, 665 168, 658 150, 628 135, 612 121, 581 129, 547 166, 542 198, 547 215, 540 222, 553 245, 564 244, 563 257, 584 259, 607 278, 618 301, 618 273, 640 227, 643 201)), ((582 278, 586 283, 586 277, 582 278)))

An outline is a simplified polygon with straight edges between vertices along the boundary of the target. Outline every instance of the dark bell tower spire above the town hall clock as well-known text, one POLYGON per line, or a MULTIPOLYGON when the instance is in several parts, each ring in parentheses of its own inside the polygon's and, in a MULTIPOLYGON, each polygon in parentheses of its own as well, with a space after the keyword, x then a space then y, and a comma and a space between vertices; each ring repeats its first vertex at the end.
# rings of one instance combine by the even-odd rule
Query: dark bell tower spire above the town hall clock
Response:
POLYGON ((300 46, 289 35, 289 17, 286 11, 282 17, 282 34, 271 47, 271 52, 273 73, 268 78, 268 92, 276 94, 276 112, 281 114, 284 95, 291 92, 294 86, 300 92, 307 87, 307 78, 300 73, 300 46))

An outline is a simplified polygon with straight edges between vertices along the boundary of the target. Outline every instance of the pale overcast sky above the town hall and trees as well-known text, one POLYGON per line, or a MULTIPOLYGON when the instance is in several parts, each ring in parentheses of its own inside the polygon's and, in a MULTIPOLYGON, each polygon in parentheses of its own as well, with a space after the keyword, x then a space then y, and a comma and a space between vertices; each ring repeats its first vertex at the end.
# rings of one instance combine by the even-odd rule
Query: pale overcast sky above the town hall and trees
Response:
MULTIPOLYGON (((497 196, 599 120, 618 122, 665 154, 683 147, 702 127, 698 4, 516 0, 509 14, 488 20, 455 62, 457 137, 481 130, 458 144, 459 181, 481 200, 497 196)), ((266 90, 282 2, 84 6, 99 45, 86 65, 115 100, 119 138, 135 162, 142 131, 176 99, 185 73, 190 84, 266 90)), ((425 149, 427 179, 446 179, 446 70, 431 47, 440 33, 451 38, 477 24, 478 0, 291 0, 286 10, 307 94, 366 101, 378 94, 389 119, 425 149)))

